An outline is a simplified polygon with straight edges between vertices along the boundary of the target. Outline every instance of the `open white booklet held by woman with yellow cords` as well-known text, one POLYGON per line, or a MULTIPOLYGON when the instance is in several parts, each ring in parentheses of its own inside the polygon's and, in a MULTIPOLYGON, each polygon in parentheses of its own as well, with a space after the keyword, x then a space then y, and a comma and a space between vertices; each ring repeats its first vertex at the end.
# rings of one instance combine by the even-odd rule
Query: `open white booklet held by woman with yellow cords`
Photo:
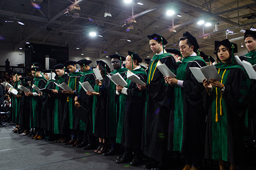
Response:
POLYGON ((191 70, 192 74, 195 76, 198 82, 202 83, 204 79, 214 79, 218 81, 221 80, 220 74, 217 72, 214 65, 208 65, 202 68, 189 67, 189 69, 191 70))

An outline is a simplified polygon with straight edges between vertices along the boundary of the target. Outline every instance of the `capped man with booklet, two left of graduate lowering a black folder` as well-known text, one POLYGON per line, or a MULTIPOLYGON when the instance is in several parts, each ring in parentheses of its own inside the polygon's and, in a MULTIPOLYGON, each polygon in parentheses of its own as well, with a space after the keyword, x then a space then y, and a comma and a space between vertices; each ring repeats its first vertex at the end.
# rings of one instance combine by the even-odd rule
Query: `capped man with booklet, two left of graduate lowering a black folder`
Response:
MULTIPOLYGON (((53 69, 57 73, 56 76, 56 83, 61 84, 63 80, 67 77, 67 74, 65 74, 65 66, 63 64, 57 64, 53 66, 53 69)), ((68 131, 64 130, 65 127, 63 127, 63 115, 64 115, 64 107, 65 107, 65 101, 66 101, 66 95, 62 94, 61 88, 58 86, 55 86, 55 89, 52 90, 54 95, 54 107, 53 107, 53 125, 52 125, 52 131, 53 134, 60 134, 60 139, 56 140, 55 142, 63 143, 67 142, 69 139, 68 137, 68 131)))

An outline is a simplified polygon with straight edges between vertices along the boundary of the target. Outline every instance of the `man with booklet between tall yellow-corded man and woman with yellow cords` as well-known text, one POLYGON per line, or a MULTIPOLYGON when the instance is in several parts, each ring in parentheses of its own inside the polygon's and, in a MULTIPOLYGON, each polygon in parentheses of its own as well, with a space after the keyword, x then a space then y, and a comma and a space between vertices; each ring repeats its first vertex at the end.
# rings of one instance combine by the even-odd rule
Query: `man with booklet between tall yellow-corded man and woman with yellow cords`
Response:
POLYGON ((184 154, 183 170, 192 170, 199 169, 204 154, 205 112, 203 84, 195 79, 189 67, 203 67, 206 63, 195 53, 199 45, 189 32, 183 33, 179 41, 183 60, 175 71, 177 77, 165 77, 166 83, 175 85, 169 149, 184 154))

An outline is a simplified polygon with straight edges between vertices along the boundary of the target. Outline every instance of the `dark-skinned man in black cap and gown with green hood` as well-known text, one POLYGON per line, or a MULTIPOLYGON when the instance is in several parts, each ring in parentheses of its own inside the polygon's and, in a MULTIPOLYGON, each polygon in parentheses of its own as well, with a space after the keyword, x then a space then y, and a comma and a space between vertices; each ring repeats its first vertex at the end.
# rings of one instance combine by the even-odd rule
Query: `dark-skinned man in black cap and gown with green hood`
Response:
MULTIPOLYGON (((119 73, 124 77, 125 72, 127 71, 125 67, 122 67, 123 61, 125 61, 125 57, 119 54, 112 54, 109 55, 109 57, 111 58, 110 64, 114 69, 110 75, 119 73)), ((111 149, 108 152, 105 152, 103 155, 116 155, 119 153, 119 143, 116 143, 116 123, 118 120, 117 113, 119 113, 119 96, 116 95, 116 85, 109 78, 106 78, 105 83, 103 83, 102 87, 100 87, 100 92, 102 97, 107 98, 107 137, 111 139, 111 149)))

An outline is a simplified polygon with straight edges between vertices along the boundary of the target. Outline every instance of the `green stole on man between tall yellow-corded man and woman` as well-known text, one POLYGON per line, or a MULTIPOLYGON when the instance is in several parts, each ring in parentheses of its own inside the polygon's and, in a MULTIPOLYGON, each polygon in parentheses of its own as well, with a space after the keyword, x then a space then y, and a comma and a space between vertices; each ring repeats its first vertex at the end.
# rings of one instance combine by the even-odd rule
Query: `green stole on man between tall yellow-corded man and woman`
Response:
MULTIPOLYGON (((189 62, 199 60, 205 63, 205 61, 199 56, 184 57, 182 63, 177 70, 178 80, 186 79, 187 65, 189 62)), ((206 65, 206 63, 205 63, 206 65)), ((174 133, 173 133, 173 150, 181 150, 182 136, 183 136, 183 107, 184 107, 184 90, 182 87, 175 85, 174 89, 174 133)))

